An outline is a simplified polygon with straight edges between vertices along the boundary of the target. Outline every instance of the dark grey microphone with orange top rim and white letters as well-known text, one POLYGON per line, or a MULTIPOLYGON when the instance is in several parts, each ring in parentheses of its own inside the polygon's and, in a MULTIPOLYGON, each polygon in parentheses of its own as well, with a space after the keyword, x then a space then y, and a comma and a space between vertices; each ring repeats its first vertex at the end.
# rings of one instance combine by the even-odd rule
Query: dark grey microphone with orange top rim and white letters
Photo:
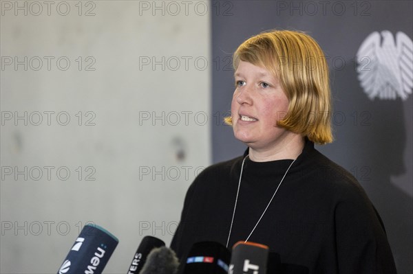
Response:
POLYGON ((233 246, 229 274, 266 274, 268 247, 255 242, 237 242, 233 246))

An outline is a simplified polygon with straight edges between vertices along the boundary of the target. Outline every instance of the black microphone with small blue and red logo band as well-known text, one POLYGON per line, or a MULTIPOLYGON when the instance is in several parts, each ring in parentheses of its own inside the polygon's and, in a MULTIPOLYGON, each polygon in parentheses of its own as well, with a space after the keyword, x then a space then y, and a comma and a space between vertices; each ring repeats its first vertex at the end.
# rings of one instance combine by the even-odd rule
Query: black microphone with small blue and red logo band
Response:
POLYGON ((227 274, 231 253, 218 242, 197 242, 188 253, 184 274, 227 274))

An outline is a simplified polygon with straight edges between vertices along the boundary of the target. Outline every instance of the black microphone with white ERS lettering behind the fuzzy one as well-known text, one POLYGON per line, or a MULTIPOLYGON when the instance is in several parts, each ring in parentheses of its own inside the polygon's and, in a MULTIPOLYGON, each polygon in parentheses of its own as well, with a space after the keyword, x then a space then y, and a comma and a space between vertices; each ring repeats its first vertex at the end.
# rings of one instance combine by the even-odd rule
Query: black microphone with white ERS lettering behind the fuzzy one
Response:
POLYGON ((165 242, 163 242, 162 240, 152 236, 145 236, 142 239, 142 242, 140 242, 138 250, 136 250, 127 274, 140 273, 151 250, 155 249, 156 247, 164 246, 165 242))

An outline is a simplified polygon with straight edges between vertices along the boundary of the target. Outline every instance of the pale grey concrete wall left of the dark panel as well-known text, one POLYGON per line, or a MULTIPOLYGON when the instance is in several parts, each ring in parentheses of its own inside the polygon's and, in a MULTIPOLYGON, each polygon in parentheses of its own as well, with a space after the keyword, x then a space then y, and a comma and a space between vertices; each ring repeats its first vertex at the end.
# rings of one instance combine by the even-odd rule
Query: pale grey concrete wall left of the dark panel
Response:
POLYGON ((1 1, 1 273, 56 273, 86 222, 120 240, 105 273, 169 244, 211 158, 209 12, 1 1))

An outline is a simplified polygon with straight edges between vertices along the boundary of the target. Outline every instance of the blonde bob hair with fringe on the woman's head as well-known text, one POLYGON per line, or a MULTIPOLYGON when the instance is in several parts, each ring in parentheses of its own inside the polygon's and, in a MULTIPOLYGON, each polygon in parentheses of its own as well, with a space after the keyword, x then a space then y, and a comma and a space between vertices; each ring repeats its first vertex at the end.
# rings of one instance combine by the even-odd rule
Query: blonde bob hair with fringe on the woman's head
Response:
MULTIPOLYGON (((288 111, 277 125, 317 144, 332 142, 328 65, 317 42, 288 30, 264 32, 246 40, 233 54, 233 68, 240 60, 264 67, 279 80, 289 100, 288 111)), ((231 117, 224 119, 232 125, 231 117)))

